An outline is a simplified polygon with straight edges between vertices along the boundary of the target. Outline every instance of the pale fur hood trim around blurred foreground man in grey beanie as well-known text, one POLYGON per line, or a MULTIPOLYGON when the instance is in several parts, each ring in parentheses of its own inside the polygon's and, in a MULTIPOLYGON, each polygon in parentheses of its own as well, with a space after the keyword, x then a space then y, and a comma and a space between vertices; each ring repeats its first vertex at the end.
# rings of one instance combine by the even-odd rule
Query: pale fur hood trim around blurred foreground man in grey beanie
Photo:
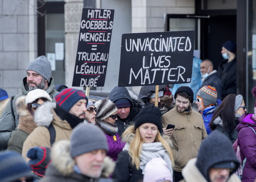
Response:
MULTIPOLYGON (((51 151, 52 165, 62 175, 71 175, 74 172, 75 161, 70 155, 70 141, 62 140, 54 144, 51 151)), ((108 178, 114 171, 115 163, 108 156, 104 159, 101 177, 108 178)))

